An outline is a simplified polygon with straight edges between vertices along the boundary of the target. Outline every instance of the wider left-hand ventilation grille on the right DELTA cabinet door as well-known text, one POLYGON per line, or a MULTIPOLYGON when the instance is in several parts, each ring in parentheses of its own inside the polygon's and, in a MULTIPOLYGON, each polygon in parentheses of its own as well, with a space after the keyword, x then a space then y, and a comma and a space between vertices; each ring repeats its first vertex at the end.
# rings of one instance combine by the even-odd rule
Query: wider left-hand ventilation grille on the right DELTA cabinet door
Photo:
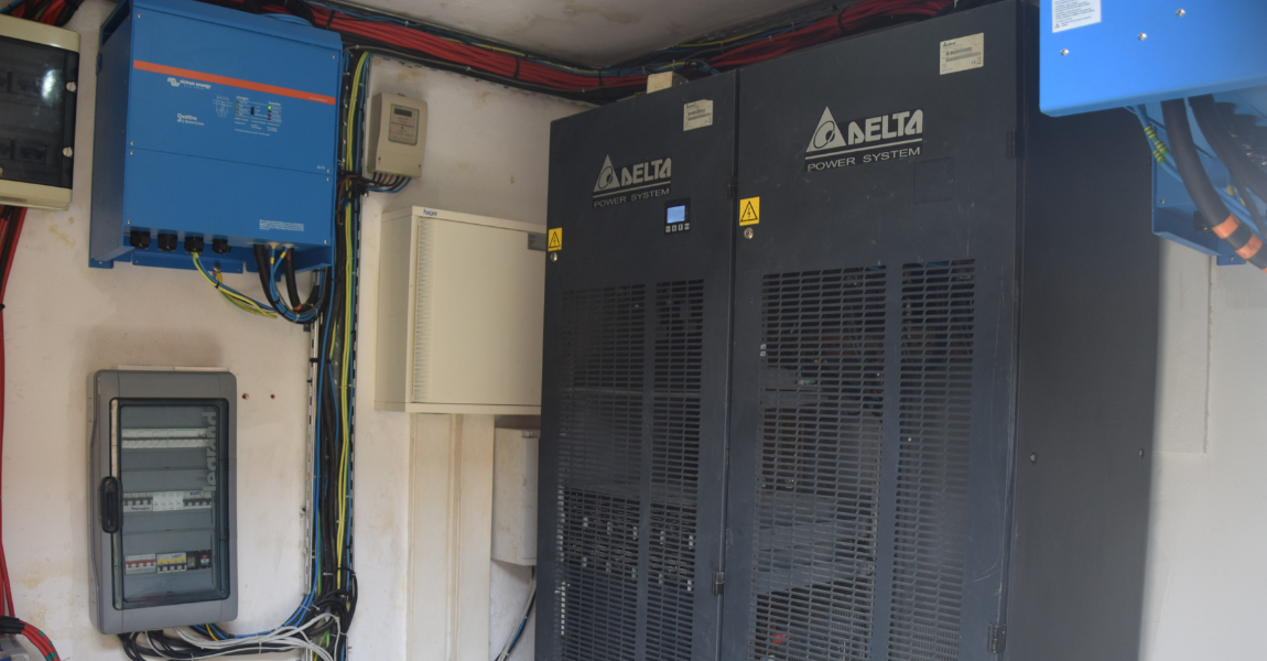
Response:
POLYGON ((749 656, 870 657, 886 271, 765 276, 749 656))

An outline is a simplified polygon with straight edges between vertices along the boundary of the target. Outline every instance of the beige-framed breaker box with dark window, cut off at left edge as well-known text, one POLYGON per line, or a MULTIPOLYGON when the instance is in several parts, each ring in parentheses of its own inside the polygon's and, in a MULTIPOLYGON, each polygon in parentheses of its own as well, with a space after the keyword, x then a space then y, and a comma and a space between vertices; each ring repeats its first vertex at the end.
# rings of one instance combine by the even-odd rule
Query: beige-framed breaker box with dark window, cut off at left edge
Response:
POLYGON ((0 204, 68 209, 79 33, 0 15, 0 204))

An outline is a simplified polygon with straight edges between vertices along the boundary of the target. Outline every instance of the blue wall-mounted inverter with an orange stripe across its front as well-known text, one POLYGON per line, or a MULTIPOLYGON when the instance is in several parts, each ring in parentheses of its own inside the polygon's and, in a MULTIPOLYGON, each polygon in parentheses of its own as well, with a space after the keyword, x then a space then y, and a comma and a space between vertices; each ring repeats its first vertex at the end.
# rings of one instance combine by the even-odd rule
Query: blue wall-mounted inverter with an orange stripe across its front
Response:
POLYGON ((255 270, 252 244, 333 262, 342 43, 191 0, 125 0, 101 25, 90 265, 255 270))

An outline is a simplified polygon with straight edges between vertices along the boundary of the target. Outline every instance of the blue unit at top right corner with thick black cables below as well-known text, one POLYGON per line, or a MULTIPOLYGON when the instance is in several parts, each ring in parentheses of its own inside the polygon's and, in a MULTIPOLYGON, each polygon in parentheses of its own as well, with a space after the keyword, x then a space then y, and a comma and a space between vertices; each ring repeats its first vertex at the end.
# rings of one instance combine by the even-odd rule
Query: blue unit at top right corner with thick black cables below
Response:
MULTIPOLYGON (((1262 0, 1041 0, 1039 106, 1062 116, 1128 108, 1169 142, 1161 101, 1213 94, 1237 138, 1267 162, 1267 3, 1262 0)), ((1211 156, 1190 116, 1201 163, 1224 204, 1247 227, 1252 214, 1229 187, 1228 168, 1211 156)), ((1140 137, 1139 139, 1144 139, 1140 137)), ((1178 172, 1153 166, 1153 233, 1244 263, 1196 214, 1178 172)), ((1257 204, 1257 200, 1251 200, 1257 204)))

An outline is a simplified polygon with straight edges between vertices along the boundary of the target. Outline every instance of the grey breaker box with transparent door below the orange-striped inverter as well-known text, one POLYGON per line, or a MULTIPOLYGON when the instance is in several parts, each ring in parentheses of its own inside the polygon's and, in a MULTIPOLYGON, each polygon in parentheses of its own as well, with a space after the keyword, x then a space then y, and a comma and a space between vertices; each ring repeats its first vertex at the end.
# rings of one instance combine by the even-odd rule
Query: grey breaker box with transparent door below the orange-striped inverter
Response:
POLYGON ((233 375, 106 370, 90 389, 96 628, 234 619, 233 375))

